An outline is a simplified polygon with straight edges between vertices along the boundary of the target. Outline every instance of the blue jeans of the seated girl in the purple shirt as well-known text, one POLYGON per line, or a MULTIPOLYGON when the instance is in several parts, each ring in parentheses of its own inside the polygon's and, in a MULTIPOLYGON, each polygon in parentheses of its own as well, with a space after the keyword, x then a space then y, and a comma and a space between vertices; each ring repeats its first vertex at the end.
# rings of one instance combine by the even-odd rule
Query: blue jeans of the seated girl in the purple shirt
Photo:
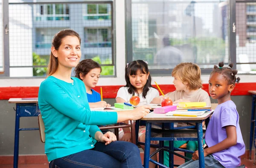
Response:
MULTIPOLYGON (((205 168, 225 168, 221 163, 215 159, 212 155, 204 157, 205 168)), ((177 168, 199 168, 199 160, 189 160, 188 162, 180 165, 177 168)))

